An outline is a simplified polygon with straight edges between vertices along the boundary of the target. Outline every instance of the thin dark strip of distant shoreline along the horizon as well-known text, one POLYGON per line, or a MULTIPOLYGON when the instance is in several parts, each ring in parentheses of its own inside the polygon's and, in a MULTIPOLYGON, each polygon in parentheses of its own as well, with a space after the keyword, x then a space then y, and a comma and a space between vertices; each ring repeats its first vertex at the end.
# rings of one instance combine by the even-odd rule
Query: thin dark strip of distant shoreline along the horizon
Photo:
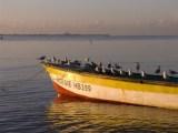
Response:
POLYGON ((178 35, 110 35, 110 34, 0 34, 0 40, 23 39, 85 39, 85 40, 145 40, 145 39, 178 39, 178 35))

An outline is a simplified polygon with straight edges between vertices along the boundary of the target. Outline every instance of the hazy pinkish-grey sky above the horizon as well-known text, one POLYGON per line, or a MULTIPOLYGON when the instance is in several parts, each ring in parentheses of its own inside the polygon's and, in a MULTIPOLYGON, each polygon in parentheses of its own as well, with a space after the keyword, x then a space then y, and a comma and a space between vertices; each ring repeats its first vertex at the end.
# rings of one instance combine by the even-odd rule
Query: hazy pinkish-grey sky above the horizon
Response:
POLYGON ((177 34, 178 0, 0 0, 0 33, 177 34))

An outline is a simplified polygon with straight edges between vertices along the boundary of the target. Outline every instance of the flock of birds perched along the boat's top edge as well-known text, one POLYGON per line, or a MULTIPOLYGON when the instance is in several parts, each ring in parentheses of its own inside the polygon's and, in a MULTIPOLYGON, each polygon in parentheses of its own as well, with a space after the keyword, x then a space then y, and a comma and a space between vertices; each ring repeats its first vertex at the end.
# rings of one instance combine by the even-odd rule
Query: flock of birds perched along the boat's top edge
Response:
MULTIPOLYGON (((85 62, 75 60, 71 61, 67 57, 61 60, 57 59, 56 57, 49 58, 46 55, 42 55, 38 58, 38 60, 42 61, 43 63, 52 64, 55 66, 63 66, 63 68, 70 68, 70 69, 80 69, 85 72, 95 72, 100 74, 107 74, 107 75, 140 75, 141 78, 145 78, 148 75, 144 70, 141 70, 141 65, 139 62, 135 62, 136 65, 136 72, 131 71, 131 69, 128 69, 127 71, 123 70, 123 68, 119 63, 108 63, 107 65, 103 65, 101 62, 96 63, 91 61, 89 58, 85 59, 85 62)), ((168 79, 169 75, 178 75, 178 72, 175 70, 168 70, 168 71, 161 71, 161 66, 158 65, 155 70, 155 74, 159 74, 162 76, 162 79, 168 79)))

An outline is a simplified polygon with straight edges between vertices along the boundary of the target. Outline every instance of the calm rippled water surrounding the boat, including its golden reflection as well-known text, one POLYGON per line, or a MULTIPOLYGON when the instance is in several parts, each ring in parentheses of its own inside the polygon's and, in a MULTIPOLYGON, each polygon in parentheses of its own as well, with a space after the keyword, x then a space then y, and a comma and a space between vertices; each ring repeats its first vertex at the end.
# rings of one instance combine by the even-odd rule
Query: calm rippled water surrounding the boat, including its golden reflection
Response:
POLYGON ((59 98, 37 57, 178 70, 177 38, 4 39, 0 41, 0 133, 178 132, 178 111, 59 98))

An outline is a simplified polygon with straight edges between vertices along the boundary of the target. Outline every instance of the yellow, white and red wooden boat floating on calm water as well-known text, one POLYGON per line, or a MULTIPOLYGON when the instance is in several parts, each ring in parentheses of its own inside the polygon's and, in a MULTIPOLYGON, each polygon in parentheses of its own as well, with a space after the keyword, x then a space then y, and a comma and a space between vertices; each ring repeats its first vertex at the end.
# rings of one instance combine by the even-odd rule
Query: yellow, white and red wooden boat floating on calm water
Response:
MULTIPOLYGON (((131 72, 95 62, 40 58, 59 95, 87 100, 178 109, 178 76, 131 72), (105 70, 105 71, 103 71, 105 70)), ((140 66, 139 66, 140 68, 140 66)), ((137 66, 137 69, 139 69, 137 66)), ((160 66, 159 66, 160 69, 160 66)), ((177 73, 176 73, 177 74, 177 73)))

